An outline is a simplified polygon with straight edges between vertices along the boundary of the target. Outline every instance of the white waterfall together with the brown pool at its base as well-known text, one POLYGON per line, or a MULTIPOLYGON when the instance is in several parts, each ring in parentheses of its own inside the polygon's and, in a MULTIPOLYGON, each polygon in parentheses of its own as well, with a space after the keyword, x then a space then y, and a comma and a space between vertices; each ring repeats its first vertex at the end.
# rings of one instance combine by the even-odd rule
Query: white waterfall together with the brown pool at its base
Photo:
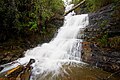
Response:
MULTIPOLYGON (((100 80, 110 75, 81 61, 80 37, 89 24, 88 14, 73 15, 75 13, 71 12, 65 17, 64 25, 49 43, 27 50, 25 57, 17 60, 20 64, 26 64, 31 58, 36 60, 31 80, 100 80)), ((3 72, 17 65, 6 67, 3 72)), ((110 80, 119 79, 112 77, 110 80)))

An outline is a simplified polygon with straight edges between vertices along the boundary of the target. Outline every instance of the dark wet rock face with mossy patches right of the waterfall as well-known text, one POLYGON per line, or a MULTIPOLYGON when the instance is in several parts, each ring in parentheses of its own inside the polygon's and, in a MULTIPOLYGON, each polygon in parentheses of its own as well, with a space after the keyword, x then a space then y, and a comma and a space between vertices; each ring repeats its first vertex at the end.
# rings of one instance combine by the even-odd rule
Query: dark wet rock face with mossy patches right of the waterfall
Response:
POLYGON ((106 71, 120 70, 120 3, 89 14, 84 31, 83 61, 106 71))

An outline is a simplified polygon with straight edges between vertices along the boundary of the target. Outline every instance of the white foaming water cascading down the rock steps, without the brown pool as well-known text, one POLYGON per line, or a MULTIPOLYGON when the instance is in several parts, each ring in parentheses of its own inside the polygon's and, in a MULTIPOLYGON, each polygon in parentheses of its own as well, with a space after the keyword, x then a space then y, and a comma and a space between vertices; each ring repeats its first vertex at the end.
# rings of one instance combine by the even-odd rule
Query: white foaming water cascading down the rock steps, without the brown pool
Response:
MULTIPOLYGON (((68 6, 66 10, 72 6, 68 6)), ((45 77, 50 73, 52 73, 52 76, 58 75, 65 72, 63 66, 82 63, 80 61, 82 39, 77 39, 77 36, 88 25, 88 14, 72 16, 74 14, 74 12, 71 12, 65 16, 64 25, 58 30, 57 36, 49 43, 27 50, 25 57, 17 60, 21 64, 27 63, 30 58, 36 60, 32 65, 33 77, 45 77)), ((81 35, 79 34, 79 36, 81 35)))

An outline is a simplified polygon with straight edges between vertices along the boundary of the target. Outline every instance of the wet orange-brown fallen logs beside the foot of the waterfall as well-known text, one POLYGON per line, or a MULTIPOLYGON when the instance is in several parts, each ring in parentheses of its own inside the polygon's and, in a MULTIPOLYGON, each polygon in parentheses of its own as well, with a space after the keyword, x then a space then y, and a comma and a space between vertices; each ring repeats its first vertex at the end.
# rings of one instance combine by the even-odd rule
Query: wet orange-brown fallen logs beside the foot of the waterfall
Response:
POLYGON ((17 67, 2 73, 2 76, 0 76, 0 79, 2 80, 29 80, 30 75, 31 75, 31 70, 32 70, 31 64, 33 64, 34 62, 35 62, 34 59, 30 59, 30 61, 28 62, 26 66, 18 65, 17 67))

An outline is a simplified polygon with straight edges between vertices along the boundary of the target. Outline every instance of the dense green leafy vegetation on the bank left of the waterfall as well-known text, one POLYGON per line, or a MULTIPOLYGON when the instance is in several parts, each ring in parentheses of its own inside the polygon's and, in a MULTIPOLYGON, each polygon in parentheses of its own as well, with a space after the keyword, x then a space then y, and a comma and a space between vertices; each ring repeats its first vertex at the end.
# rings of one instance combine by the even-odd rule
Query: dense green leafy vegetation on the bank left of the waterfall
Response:
POLYGON ((63 12, 62 0, 1 0, 0 41, 45 32, 50 20, 63 12))

